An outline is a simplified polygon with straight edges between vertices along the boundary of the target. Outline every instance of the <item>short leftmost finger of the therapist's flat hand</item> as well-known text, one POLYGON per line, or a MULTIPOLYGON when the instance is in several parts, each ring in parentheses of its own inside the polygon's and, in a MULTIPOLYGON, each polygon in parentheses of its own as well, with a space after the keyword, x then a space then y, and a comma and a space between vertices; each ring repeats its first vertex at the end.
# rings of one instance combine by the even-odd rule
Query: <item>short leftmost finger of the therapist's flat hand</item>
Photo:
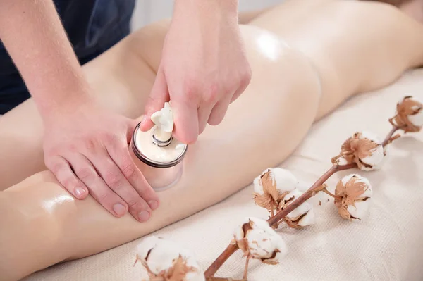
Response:
POLYGON ((85 199, 88 196, 87 187, 75 176, 65 158, 61 156, 51 157, 46 161, 46 167, 51 170, 51 173, 54 173, 60 184, 77 199, 85 199))

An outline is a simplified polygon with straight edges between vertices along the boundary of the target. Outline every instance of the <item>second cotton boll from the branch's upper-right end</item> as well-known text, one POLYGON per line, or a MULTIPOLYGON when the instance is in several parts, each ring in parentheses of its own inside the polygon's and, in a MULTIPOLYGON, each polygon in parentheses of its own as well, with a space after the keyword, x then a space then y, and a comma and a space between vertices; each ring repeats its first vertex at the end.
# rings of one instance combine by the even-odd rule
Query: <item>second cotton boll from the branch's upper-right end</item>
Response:
POLYGON ((356 163, 361 170, 376 170, 384 161, 384 146, 372 132, 356 132, 341 146, 341 154, 332 159, 333 164, 356 163))

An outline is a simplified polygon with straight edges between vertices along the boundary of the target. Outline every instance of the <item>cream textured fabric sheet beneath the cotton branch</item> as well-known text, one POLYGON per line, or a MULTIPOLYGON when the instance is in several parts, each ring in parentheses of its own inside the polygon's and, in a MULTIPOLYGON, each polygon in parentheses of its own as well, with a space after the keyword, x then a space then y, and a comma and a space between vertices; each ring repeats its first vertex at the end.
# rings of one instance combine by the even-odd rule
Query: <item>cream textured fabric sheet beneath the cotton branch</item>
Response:
MULTIPOLYGON (((331 166, 342 142, 356 130, 372 130, 385 137, 388 118, 405 94, 423 99, 423 70, 403 75, 377 92, 346 102, 315 124, 295 153, 281 164, 301 181, 312 183, 331 166)), ((299 113, 300 114, 300 113, 299 113)), ((376 172, 359 172, 374 188, 369 219, 342 220, 333 204, 317 208, 317 224, 304 230, 281 225, 289 253, 283 263, 269 266, 250 262, 249 280, 423 280, 423 132, 407 135, 389 148, 389 158, 376 172)), ((357 173, 357 170, 353 170, 357 173)), ((329 186, 350 171, 334 175, 329 186)), ((253 179, 252 179, 253 180, 253 179)), ((252 201, 252 186, 215 206, 154 233, 195 252, 202 268, 231 241, 234 225, 245 216, 266 218, 252 201)), ((141 238, 142 239, 142 238, 141 238)), ((135 240, 95 256, 59 264, 25 280, 143 280, 141 264, 133 267, 135 240)), ((216 276, 242 277, 245 259, 238 251, 216 276)))

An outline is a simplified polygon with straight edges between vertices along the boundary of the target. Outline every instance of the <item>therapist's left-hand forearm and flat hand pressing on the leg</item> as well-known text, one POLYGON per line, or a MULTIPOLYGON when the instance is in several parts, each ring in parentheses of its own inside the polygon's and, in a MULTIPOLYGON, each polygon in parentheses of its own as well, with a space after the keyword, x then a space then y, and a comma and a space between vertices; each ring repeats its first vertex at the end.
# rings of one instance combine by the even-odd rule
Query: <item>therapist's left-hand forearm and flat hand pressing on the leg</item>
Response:
POLYGON ((0 1, 0 38, 42 118, 47 168, 76 198, 147 220, 158 198, 130 158, 135 121, 94 106, 53 1, 0 1))

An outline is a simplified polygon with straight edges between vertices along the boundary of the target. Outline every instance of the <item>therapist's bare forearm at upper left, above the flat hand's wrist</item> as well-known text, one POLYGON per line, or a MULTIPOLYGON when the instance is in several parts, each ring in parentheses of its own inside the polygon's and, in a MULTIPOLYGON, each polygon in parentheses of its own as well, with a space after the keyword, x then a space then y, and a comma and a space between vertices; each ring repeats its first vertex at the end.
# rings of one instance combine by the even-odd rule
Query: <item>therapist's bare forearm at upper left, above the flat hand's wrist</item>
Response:
POLYGON ((42 114, 87 98, 87 83, 51 0, 1 0, 0 39, 42 114))

